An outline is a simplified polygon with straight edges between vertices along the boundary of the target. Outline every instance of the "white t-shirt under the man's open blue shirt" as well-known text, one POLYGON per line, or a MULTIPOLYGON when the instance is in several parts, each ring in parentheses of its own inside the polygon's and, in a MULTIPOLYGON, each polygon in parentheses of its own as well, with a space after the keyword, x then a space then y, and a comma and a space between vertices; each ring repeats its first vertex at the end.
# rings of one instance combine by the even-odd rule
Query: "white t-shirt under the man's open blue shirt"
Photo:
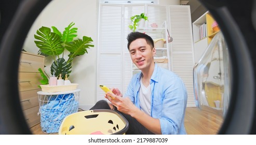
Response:
POLYGON ((145 87, 140 80, 141 87, 139 91, 140 109, 146 114, 151 115, 151 89, 150 85, 145 87))

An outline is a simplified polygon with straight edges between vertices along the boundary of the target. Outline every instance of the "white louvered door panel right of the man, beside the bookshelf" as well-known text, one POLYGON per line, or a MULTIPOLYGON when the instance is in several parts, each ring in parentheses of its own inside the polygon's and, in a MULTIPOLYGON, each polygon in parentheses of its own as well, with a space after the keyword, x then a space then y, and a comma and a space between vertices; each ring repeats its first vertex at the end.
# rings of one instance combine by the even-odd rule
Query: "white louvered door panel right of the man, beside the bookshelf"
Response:
POLYGON ((179 75, 187 89, 187 107, 195 107, 193 90, 194 52, 190 6, 169 6, 171 70, 179 75))

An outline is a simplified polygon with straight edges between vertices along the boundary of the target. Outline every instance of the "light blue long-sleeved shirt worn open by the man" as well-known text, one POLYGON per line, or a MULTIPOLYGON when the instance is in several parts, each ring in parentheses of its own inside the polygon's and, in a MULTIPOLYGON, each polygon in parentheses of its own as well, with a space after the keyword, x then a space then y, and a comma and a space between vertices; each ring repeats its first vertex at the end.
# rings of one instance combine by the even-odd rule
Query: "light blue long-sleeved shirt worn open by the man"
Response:
MULTIPOLYGON (((133 75, 124 97, 140 108, 139 90, 142 73, 133 75)), ((187 91, 181 78, 172 71, 155 64, 150 80, 151 117, 160 121, 162 134, 186 134, 184 115, 187 91)))

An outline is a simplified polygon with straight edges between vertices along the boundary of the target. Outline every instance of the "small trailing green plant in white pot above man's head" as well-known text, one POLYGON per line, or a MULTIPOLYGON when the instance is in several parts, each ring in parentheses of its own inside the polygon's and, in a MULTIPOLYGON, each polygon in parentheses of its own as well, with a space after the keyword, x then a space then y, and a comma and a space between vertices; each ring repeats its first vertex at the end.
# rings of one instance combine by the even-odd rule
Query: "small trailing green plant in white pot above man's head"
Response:
POLYGON ((129 25, 130 30, 132 30, 133 32, 136 31, 136 28, 138 27, 138 25, 140 23, 142 23, 142 25, 144 25, 145 21, 147 20, 147 17, 145 16, 145 13, 141 13, 140 15, 135 15, 130 17, 131 19, 131 24, 129 25))

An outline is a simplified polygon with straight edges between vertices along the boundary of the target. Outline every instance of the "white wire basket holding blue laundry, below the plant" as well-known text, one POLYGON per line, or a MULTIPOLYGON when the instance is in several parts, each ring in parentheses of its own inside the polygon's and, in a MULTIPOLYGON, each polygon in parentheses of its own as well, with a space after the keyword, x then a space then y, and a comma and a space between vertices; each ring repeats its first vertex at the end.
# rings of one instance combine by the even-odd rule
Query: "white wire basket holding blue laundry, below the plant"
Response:
POLYGON ((54 93, 39 91, 37 94, 41 129, 45 133, 58 133, 63 119, 78 112, 79 89, 54 93))

